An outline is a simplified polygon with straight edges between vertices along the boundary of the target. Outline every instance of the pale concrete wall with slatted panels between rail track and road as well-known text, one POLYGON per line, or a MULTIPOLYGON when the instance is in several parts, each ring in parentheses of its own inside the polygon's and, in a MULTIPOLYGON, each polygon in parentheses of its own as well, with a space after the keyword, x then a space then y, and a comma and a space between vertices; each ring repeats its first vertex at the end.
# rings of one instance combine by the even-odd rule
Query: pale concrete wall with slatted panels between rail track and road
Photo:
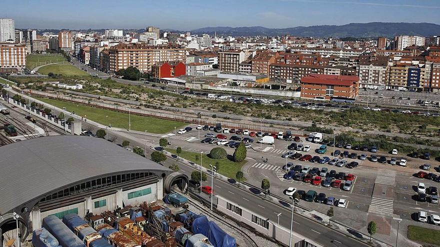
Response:
MULTIPOLYGON (((231 218, 234 218, 235 220, 242 222, 252 228, 254 228, 256 231, 258 231, 261 234, 266 235, 269 238, 273 238, 276 241, 283 243, 284 245, 289 245, 289 238, 290 238, 290 229, 286 229, 284 227, 278 226, 276 223, 272 223, 270 220, 268 221, 268 229, 252 222, 252 215, 261 218, 261 219, 267 219, 266 217, 260 216, 252 211, 247 210, 246 208, 243 208, 242 206, 233 203, 231 201, 228 201, 220 196, 215 196, 218 200, 217 203, 217 210, 228 215, 231 218), (232 205, 235 205, 241 209, 241 216, 236 214, 235 212, 232 212, 226 208, 227 203, 230 203, 232 205)), ((297 235, 294 232, 292 233, 292 244, 294 246, 307 246, 307 247, 321 247, 320 245, 311 242, 310 240, 306 240, 303 236, 297 235)))

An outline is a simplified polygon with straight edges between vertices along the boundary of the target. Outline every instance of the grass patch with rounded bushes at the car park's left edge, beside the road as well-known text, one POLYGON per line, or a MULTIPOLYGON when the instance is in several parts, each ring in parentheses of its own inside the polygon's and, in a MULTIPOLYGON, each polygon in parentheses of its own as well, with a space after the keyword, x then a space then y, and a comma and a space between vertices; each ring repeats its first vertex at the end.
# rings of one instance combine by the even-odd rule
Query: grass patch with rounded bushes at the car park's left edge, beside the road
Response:
MULTIPOLYGON (((175 149, 165 148, 165 150, 177 155, 177 153, 175 152, 175 149)), ((196 164, 200 164, 200 153, 182 150, 182 153, 179 156, 182 157, 183 159, 192 161, 196 164), (198 155, 197 160, 195 159, 195 155, 198 155)), ((231 178, 231 179, 235 179, 235 174, 238 171, 241 171, 241 167, 244 166, 244 164, 246 164, 246 162, 247 162, 246 160, 244 160, 242 162, 233 162, 228 159, 213 160, 213 159, 209 158, 207 156, 207 154, 203 154, 201 159, 202 159, 202 166, 207 169, 210 169, 209 164, 215 165, 215 162, 218 162, 220 168, 217 170, 217 172, 219 174, 224 175, 224 176, 231 178)), ((243 181, 246 181, 246 179, 244 178, 243 181)))

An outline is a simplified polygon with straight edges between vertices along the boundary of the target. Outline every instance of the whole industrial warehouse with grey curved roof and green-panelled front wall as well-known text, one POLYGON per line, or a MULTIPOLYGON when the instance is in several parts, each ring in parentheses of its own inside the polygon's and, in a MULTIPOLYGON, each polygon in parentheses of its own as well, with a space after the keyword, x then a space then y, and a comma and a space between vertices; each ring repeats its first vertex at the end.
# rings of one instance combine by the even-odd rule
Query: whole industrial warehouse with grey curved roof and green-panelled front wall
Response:
POLYGON ((30 139, 1 147, 0 157, 0 228, 15 229, 18 214, 22 241, 47 216, 99 215, 162 200, 174 185, 186 192, 188 185, 185 175, 100 138, 30 139))

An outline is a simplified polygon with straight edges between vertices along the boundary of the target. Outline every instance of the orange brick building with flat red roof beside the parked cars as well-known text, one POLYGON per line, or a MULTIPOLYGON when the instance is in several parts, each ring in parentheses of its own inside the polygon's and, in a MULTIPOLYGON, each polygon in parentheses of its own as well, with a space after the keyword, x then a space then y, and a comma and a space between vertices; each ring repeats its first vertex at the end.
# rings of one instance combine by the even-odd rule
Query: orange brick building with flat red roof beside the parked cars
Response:
POLYGON ((358 94, 358 76, 310 74, 301 79, 301 98, 330 100, 332 96, 355 98, 358 94))

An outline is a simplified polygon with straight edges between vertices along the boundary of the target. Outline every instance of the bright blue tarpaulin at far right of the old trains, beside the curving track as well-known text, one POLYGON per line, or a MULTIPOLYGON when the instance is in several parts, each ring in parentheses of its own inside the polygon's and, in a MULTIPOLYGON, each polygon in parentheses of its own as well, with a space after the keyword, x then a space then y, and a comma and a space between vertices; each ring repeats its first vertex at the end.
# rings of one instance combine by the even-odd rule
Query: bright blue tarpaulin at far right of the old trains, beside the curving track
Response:
POLYGON ((191 230, 194 234, 206 236, 214 247, 235 247, 235 239, 227 235, 214 222, 209 222, 206 216, 199 217, 192 222, 191 230))

